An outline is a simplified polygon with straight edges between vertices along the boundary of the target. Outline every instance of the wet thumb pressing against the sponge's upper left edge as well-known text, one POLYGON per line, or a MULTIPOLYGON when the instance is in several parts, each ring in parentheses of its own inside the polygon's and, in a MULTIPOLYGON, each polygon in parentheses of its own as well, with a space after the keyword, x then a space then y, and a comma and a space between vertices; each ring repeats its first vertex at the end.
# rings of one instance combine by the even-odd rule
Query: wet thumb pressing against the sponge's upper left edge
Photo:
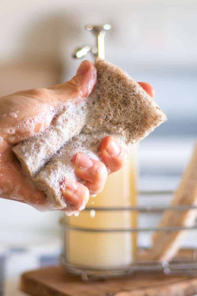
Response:
POLYGON ((84 98, 91 94, 96 84, 96 68, 92 62, 83 61, 76 75, 66 83, 50 87, 54 95, 62 102, 72 98, 84 98))

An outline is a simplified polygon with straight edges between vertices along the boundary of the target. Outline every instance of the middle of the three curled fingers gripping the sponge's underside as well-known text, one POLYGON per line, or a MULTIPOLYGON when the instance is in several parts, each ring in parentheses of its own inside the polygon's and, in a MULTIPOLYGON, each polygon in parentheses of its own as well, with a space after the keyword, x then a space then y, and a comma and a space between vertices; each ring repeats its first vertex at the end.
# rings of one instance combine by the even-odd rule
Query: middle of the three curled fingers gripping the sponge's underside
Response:
POLYGON ((77 153, 74 156, 73 165, 75 165, 76 175, 87 181, 85 185, 90 194, 97 194, 102 191, 108 176, 104 163, 89 159, 83 153, 77 153))

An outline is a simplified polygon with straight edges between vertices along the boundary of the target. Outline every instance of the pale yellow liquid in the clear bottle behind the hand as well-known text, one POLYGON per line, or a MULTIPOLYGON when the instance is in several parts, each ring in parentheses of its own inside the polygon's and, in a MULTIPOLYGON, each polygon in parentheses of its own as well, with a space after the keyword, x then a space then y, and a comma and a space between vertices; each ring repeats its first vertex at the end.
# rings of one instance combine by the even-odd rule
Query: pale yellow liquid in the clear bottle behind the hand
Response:
MULTIPOLYGON (((87 207, 136 206, 136 145, 124 167, 108 176, 103 191, 89 198, 87 207)), ((66 223, 91 229, 125 229, 137 225, 134 211, 82 211, 66 217, 66 223)), ((67 229, 65 258, 72 265, 101 268, 131 264, 136 254, 137 236, 132 232, 86 232, 67 229)))

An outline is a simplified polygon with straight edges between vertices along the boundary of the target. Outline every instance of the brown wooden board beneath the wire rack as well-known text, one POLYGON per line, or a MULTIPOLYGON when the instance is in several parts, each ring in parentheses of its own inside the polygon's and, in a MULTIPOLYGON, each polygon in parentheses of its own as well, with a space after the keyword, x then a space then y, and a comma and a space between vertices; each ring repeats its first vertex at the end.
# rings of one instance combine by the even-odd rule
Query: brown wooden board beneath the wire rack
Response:
POLYGON ((32 296, 191 296, 197 293, 197 277, 135 274, 84 283, 61 266, 25 272, 21 289, 32 296))

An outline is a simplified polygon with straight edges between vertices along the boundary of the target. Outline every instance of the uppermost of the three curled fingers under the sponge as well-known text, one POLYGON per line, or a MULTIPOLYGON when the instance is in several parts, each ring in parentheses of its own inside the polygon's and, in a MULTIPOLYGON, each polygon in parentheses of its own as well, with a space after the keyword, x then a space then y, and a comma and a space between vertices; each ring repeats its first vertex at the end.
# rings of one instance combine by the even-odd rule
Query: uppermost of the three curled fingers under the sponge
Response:
POLYGON ((126 149, 121 147, 118 141, 112 136, 105 137, 101 141, 99 151, 109 172, 120 170, 128 155, 126 149))

